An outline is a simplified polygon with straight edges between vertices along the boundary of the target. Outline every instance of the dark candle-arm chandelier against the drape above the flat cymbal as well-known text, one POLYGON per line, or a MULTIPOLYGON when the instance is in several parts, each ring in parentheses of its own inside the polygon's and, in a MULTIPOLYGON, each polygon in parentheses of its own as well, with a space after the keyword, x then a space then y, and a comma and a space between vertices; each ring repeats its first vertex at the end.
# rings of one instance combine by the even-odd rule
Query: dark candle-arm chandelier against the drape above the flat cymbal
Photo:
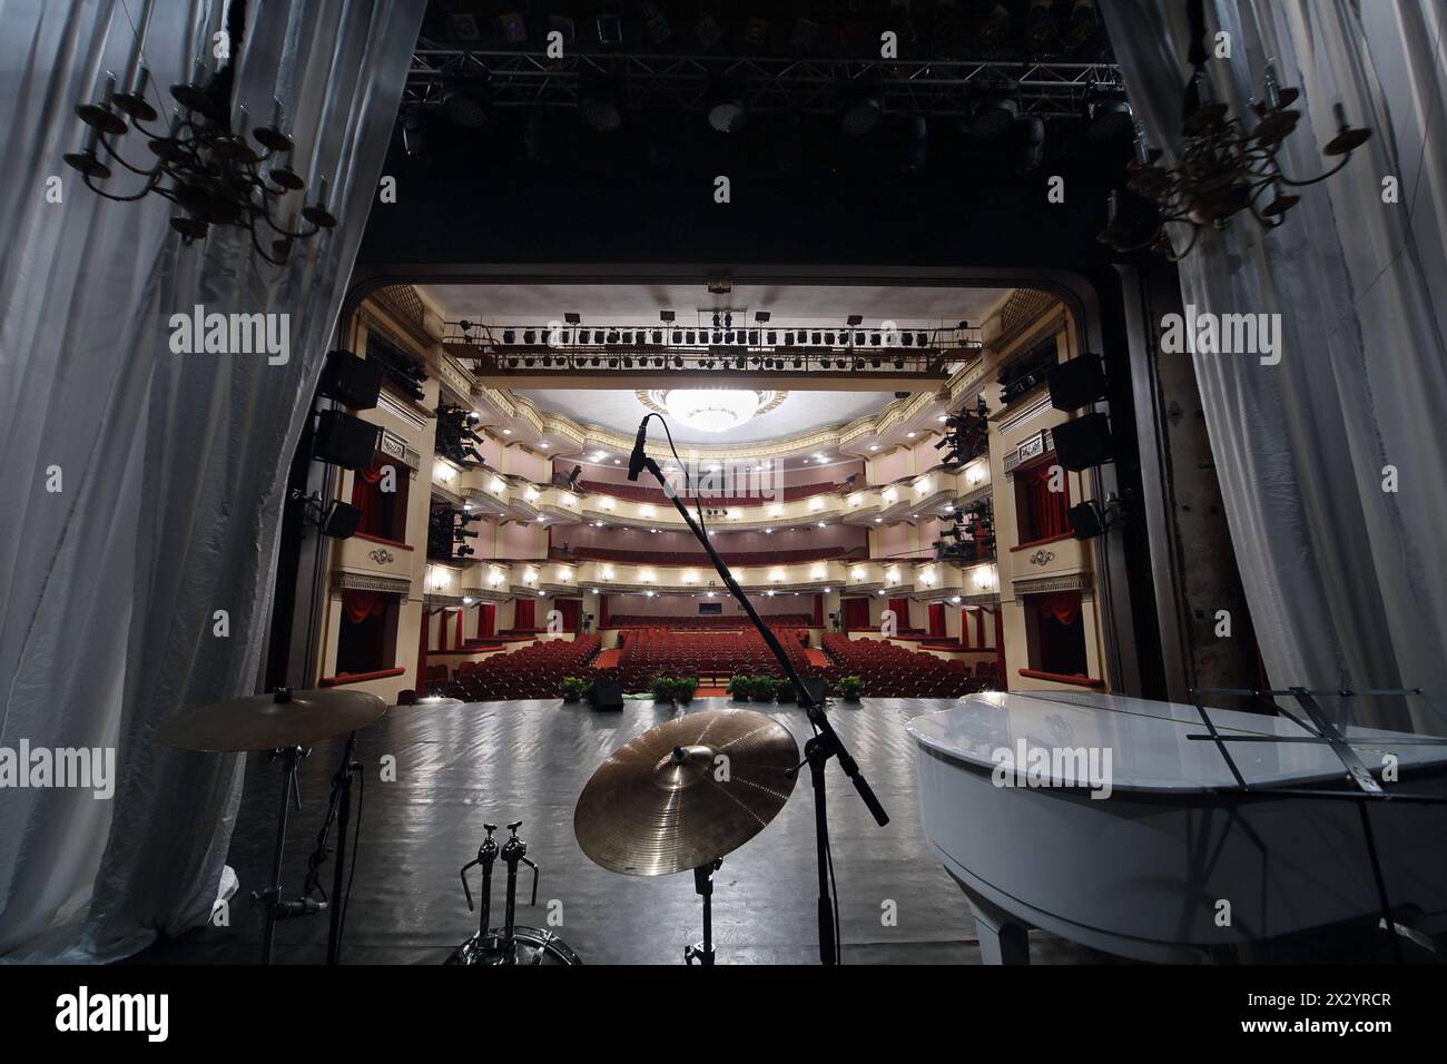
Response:
POLYGON ((107 74, 100 97, 75 109, 85 124, 84 140, 78 152, 67 152, 65 162, 80 171, 87 188, 107 200, 129 203, 155 193, 175 203, 184 213, 171 219, 171 227, 181 233, 185 245, 204 237, 213 224, 237 226, 250 233, 263 259, 285 263, 294 240, 333 229, 337 219, 326 206, 326 177, 317 182, 313 203, 302 198, 300 214, 310 229, 297 227, 295 216, 282 210, 282 197, 302 191, 307 182, 291 166, 297 145, 282 124, 279 100, 272 100, 268 124, 249 129, 245 106, 237 109, 237 122, 232 124, 234 56, 246 26, 246 1, 232 0, 227 7, 226 58, 211 77, 205 78, 205 65, 197 59, 192 80, 171 85, 171 97, 178 106, 166 130, 148 129, 159 117, 152 98, 161 103, 153 94, 148 98, 150 72, 142 64, 153 7, 155 0, 146 0, 122 91, 116 91, 116 75, 107 74), (149 166, 133 165, 117 151, 114 140, 130 130, 146 139, 155 156, 149 166), (111 177, 111 164, 140 178, 140 188, 126 193, 100 188, 97 182, 111 177), (262 246, 263 236, 271 237, 269 252, 262 246))

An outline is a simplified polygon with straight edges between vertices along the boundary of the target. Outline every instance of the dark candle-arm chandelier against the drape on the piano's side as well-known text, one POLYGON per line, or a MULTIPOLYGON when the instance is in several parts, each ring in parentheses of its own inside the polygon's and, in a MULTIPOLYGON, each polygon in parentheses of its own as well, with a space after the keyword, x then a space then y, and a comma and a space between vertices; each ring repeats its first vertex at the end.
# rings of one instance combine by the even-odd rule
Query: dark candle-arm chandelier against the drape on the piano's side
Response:
POLYGON ((1262 229, 1282 224, 1301 200, 1289 190, 1337 174, 1350 162, 1351 152, 1372 136, 1370 129, 1349 124, 1346 109, 1337 103, 1333 107, 1337 135, 1323 149, 1337 164, 1312 178, 1286 177, 1276 156, 1301 120, 1301 111, 1292 107, 1299 97, 1299 90, 1281 85, 1275 64, 1268 62, 1262 98, 1250 101, 1255 117, 1243 123, 1229 117, 1229 107, 1211 94, 1204 67, 1197 67, 1187 88, 1187 117, 1174 166, 1160 165, 1160 149, 1152 148, 1142 126, 1136 124, 1136 158, 1126 168, 1126 187, 1155 204, 1158 219, 1150 235, 1136 240, 1137 230, 1119 217, 1117 193, 1111 193, 1106 229, 1097 239, 1120 253, 1149 248, 1179 262, 1195 248, 1201 230, 1224 230, 1243 211, 1249 211, 1262 229), (1176 223, 1191 227, 1191 239, 1179 252, 1166 232, 1176 223))

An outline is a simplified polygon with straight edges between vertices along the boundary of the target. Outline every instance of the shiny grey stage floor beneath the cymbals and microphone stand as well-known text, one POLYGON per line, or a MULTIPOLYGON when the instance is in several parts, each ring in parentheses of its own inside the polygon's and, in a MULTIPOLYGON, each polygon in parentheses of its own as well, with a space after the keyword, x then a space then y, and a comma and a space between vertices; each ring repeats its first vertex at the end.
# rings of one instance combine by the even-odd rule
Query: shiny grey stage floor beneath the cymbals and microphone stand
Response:
MULTIPOLYGON (((728 705, 722 698, 697 699, 689 711, 728 705)), ((891 816, 888 827, 875 827, 848 779, 831 766, 831 838, 846 964, 980 961, 969 908, 920 831, 915 753, 904 731, 910 717, 948 705, 952 702, 870 698, 831 706, 835 728, 891 816), (897 915, 893 925, 884 919, 887 911, 897 915)), ((805 714, 787 705, 770 709, 802 750, 810 734, 805 714)), ((693 877, 609 873, 589 861, 573 838, 573 806, 593 770, 629 738, 679 712, 651 701, 628 701, 621 714, 557 699, 420 705, 394 709, 359 732, 357 760, 368 770, 343 963, 441 963, 476 929, 457 870, 476 857, 482 822, 521 819, 518 834, 541 866, 541 879, 537 908, 518 906, 519 924, 548 926, 551 903, 561 912, 561 925, 553 931, 585 964, 682 964, 683 947, 702 937, 693 877), (396 780, 383 783, 378 766, 388 754, 396 759, 396 780)), ((324 743, 302 766, 301 812, 294 811, 287 838, 287 899, 301 890, 340 756, 339 741, 324 743)), ((240 877, 230 926, 158 942, 135 960, 258 958, 260 918, 247 899, 266 884, 279 788, 279 769, 265 756, 250 754, 229 857, 240 877)), ((505 837, 506 831, 498 834, 505 837)), ((501 863, 496 873, 493 921, 501 924, 501 863)), ((479 879, 473 869, 475 893, 479 879)), ((528 883, 522 869, 522 902, 528 883)), ((323 886, 330 892, 330 863, 323 886)), ((816 963, 816 898, 813 796, 806 772, 778 816, 729 854, 715 876, 718 961, 816 963)), ((326 915, 281 924, 275 958, 323 963, 326 940, 326 915)), ((1061 940, 1032 938, 1035 963, 1100 958, 1061 940)))

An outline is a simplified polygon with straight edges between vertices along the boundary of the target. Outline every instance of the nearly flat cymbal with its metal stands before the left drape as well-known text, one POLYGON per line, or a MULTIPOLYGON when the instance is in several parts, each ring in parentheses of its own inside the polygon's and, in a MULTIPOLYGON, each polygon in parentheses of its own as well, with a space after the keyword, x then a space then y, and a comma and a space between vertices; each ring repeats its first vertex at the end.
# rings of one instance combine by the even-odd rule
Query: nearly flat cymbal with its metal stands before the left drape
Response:
MULTIPOLYGON (((247 695, 213 702, 190 709, 166 721, 156 731, 156 743, 178 750, 198 753, 249 753, 268 750, 269 761, 281 761, 282 792, 276 811, 276 845, 272 850, 271 884, 252 892, 252 900, 262 908, 262 964, 271 964, 276 922, 297 916, 311 916, 331 909, 331 926, 327 935, 327 961, 334 964, 341 948, 344 905, 341 900, 341 869, 346 853, 346 828, 350 819, 352 774, 360 764, 352 760, 356 750, 356 731, 376 724, 386 714, 386 702, 376 695, 359 691, 297 691, 276 688, 269 695, 247 695), (307 896, 294 902, 281 900, 281 867, 287 844, 287 822, 291 806, 301 809, 301 789, 297 785, 297 770, 310 756, 311 747, 323 740, 347 735, 343 767, 333 777, 333 795, 327 809, 327 822, 318 838, 318 857, 313 854, 308 863, 307 896), (343 841, 337 847, 337 866, 333 876, 333 898, 315 900, 318 892, 318 867, 326 860, 326 838, 333 816, 341 829, 343 841)), ((353 870, 356 860, 353 857, 353 870)))

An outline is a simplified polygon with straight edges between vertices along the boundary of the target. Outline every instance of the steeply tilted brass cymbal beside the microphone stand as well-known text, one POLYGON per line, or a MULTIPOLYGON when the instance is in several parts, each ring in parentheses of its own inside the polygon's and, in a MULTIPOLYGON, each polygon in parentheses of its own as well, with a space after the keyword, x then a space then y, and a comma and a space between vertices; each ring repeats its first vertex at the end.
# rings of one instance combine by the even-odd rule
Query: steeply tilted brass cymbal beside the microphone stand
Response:
POLYGON ((687 714, 603 761, 577 798, 573 834, 609 871, 697 869, 764 829, 794 789, 796 764, 794 737, 771 717, 750 709, 687 714))

